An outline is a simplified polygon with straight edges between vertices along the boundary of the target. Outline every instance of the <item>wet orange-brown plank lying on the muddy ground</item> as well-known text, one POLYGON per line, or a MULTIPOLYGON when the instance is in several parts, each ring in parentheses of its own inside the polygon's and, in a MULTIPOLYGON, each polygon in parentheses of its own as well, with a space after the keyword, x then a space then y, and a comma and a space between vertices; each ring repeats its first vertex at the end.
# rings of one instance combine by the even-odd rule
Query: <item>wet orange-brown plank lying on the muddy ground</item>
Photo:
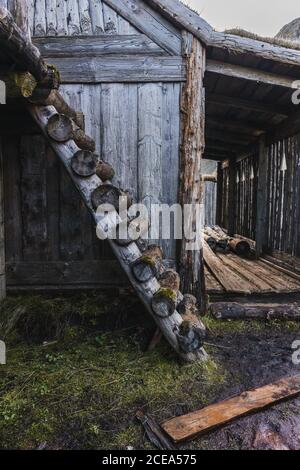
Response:
POLYGON ((299 393, 300 375, 286 377, 200 411, 170 419, 162 424, 162 428, 174 442, 181 442, 299 393))

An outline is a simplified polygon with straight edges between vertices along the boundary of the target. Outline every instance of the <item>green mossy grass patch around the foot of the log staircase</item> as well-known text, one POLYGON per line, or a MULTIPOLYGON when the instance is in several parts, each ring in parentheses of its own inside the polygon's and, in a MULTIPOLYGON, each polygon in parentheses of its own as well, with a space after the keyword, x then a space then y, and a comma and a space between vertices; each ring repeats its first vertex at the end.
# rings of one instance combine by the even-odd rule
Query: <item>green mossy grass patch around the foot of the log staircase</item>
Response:
MULTIPOLYGON (((123 303, 82 295, 18 297, 2 304, 2 324, 23 305, 36 330, 43 315, 54 311, 61 325, 58 339, 48 345, 38 336, 29 343, 27 333, 25 342, 20 332, 7 336, 7 365, 0 368, 2 448, 151 448, 135 421, 139 409, 161 422, 217 397, 226 381, 223 366, 213 359, 181 364, 165 342, 143 352, 147 334, 141 325, 147 317, 130 334, 127 327, 116 329, 112 317, 120 321, 123 303), (112 326, 105 329, 107 317, 112 326)), ((26 314, 22 324, 25 319, 26 314)))

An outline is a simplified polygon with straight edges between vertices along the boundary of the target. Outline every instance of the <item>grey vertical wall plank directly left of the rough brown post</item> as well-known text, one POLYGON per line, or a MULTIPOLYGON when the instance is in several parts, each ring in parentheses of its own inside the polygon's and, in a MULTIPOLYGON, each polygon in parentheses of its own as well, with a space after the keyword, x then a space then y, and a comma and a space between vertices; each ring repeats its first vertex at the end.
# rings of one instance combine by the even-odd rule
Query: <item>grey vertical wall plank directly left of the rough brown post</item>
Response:
MULTIPOLYGON (((179 197, 180 88, 179 84, 162 86, 162 202, 170 206, 177 204, 179 197)), ((167 259, 176 260, 177 243, 172 232, 170 240, 162 241, 167 259)))

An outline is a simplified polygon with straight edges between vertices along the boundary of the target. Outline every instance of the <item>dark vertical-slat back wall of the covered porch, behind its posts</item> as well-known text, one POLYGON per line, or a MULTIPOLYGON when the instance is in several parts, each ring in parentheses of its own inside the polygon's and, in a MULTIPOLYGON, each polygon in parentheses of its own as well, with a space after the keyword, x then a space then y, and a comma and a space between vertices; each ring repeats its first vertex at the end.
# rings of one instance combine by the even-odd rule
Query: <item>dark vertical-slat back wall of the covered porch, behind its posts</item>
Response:
MULTIPOLYGON (((267 149, 267 207, 264 246, 300 254, 300 135, 267 149)), ((256 239, 258 154, 238 161, 235 170, 235 232, 256 239)), ((222 225, 228 227, 228 168, 223 169, 222 225)))

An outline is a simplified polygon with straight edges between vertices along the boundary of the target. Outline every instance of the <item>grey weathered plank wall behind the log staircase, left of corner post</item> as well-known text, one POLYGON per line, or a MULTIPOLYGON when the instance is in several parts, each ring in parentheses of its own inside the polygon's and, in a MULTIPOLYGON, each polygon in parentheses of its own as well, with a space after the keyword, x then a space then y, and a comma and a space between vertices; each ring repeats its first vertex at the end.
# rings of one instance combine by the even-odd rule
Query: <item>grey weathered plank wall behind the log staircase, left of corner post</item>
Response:
MULTIPOLYGON (((127 8, 123 0, 30 2, 36 44, 61 66, 61 92, 84 113, 97 152, 116 170, 115 183, 148 206, 177 203, 181 32, 148 7, 127 8, 126 19, 108 3, 127 8), (146 24, 147 34, 131 17, 146 24)), ((8 285, 126 283, 43 138, 13 134, 3 139, 8 285)), ((176 241, 161 244, 174 261, 176 241)))

